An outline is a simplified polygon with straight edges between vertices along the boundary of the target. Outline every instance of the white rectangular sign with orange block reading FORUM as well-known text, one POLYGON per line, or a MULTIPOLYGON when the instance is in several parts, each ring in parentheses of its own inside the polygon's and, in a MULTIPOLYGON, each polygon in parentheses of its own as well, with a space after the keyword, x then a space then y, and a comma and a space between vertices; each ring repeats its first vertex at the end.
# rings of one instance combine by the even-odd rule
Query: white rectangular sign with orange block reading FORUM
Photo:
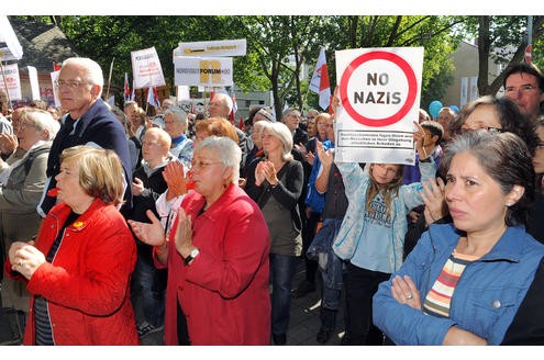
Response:
POLYGON ((230 87, 232 79, 231 57, 176 57, 175 83, 204 87, 230 87))

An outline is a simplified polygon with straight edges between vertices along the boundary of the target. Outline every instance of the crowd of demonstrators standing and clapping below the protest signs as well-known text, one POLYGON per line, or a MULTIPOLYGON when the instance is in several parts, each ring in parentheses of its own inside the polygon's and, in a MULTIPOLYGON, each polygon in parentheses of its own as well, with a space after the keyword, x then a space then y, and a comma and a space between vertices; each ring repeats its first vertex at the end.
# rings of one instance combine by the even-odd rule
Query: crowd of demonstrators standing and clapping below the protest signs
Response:
POLYGON ((340 162, 331 113, 244 130, 165 99, 111 109, 88 58, 62 111, 0 121, 2 307, 24 345, 286 345, 320 291, 319 344, 544 344, 544 75, 413 122, 415 165, 340 162), (22 226, 24 224, 24 226, 22 226), (296 270, 304 279, 293 284, 296 270), (344 297, 344 303, 342 303, 344 297))

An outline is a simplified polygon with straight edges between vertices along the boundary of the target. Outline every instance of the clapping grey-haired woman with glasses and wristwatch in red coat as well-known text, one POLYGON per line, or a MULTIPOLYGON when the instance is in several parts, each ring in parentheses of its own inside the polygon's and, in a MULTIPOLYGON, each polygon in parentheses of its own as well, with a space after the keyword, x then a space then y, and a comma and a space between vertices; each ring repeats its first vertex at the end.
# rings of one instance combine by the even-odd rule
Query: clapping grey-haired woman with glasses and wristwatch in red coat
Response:
POLYGON ((268 228, 257 204, 238 187, 242 150, 209 136, 195 148, 188 192, 168 238, 129 221, 168 269, 165 345, 268 345, 268 228))

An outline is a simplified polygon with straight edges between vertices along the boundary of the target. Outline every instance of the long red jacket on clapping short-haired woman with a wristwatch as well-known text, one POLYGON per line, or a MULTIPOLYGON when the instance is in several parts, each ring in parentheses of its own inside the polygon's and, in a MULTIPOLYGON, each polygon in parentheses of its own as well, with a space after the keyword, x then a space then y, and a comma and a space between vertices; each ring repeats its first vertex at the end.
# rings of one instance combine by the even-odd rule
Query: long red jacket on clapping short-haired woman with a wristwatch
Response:
POLYGON ((270 239, 263 214, 233 184, 198 216, 204 202, 191 192, 181 203, 200 250, 190 266, 184 266, 174 245, 177 222, 170 232, 165 344, 178 344, 178 297, 192 345, 269 345, 270 239))

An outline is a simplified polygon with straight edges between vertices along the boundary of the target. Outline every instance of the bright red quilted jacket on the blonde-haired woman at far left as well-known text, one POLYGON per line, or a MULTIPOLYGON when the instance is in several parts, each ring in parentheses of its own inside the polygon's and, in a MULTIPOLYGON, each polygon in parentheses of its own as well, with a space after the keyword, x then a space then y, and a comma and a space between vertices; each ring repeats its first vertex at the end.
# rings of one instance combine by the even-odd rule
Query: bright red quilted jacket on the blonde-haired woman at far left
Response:
MULTIPOLYGON (((45 256, 70 211, 62 203, 44 220, 36 248, 45 256)), ((24 345, 35 344, 35 295, 48 301, 56 345, 138 345, 130 301, 135 261, 134 238, 123 216, 95 200, 66 227, 53 263, 41 265, 27 282, 32 296, 24 345)), ((11 265, 5 269, 10 272, 11 265)))

